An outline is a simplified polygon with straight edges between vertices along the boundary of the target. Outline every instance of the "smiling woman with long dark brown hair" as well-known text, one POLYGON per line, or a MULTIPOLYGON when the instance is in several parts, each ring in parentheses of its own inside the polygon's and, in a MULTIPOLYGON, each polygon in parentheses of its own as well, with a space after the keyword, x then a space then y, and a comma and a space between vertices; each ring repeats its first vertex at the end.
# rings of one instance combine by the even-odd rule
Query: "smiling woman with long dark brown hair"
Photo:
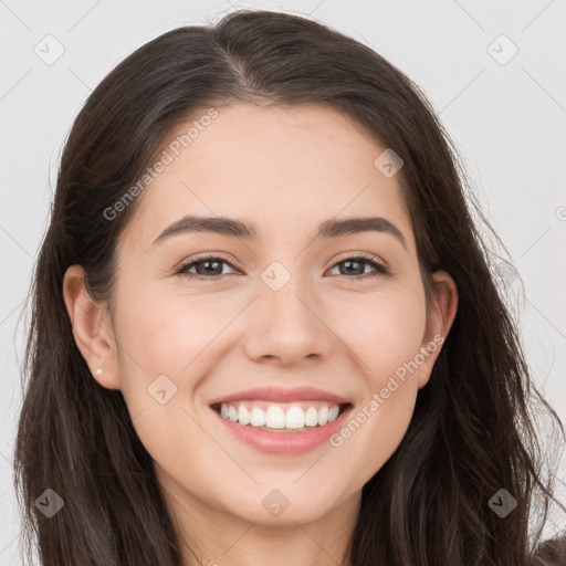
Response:
POLYGON ((410 80, 298 17, 109 73, 35 273, 15 462, 42 564, 532 563, 531 406, 564 429, 455 155, 410 80))

